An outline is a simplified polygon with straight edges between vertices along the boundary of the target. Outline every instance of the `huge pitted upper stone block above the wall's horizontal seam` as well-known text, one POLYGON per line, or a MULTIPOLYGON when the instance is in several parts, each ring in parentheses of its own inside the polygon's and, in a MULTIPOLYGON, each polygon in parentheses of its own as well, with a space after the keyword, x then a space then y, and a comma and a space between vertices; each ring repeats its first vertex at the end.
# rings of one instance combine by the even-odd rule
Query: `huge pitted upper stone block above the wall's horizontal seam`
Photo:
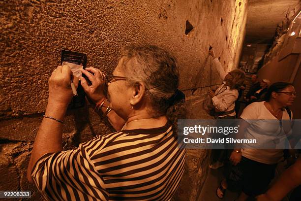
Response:
POLYGON ((122 46, 157 44, 178 58, 181 89, 219 83, 209 47, 226 70, 236 67, 246 17, 246 2, 233 0, 1 4, 0 114, 7 117, 44 110, 47 81, 60 64, 62 48, 87 53, 88 66, 110 74, 122 46))

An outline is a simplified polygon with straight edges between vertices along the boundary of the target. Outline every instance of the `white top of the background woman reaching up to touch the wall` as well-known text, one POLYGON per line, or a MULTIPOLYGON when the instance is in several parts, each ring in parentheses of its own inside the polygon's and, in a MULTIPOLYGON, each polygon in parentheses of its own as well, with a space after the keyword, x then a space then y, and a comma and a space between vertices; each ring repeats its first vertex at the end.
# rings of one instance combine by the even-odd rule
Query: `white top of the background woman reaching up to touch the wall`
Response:
MULTIPOLYGON (((223 69, 221 66, 221 63, 218 61, 217 58, 213 59, 214 67, 218 71, 221 79, 224 79, 227 75, 227 72, 223 69)), ((230 89, 230 87, 226 86, 225 84, 222 84, 214 93, 214 97, 212 98, 213 105, 216 109, 216 111, 220 112, 227 112, 231 111, 235 108, 235 101, 238 98, 238 90, 237 89, 230 89)), ((235 111, 231 114, 226 115, 218 115, 219 117, 224 116, 235 116, 235 111)))

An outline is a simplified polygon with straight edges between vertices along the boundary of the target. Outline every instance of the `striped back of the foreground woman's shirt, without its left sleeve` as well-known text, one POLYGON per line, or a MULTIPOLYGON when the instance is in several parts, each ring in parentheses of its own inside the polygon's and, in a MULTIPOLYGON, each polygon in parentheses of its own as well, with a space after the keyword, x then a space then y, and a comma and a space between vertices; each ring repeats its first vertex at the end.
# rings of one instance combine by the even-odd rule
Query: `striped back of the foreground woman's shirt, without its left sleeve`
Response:
POLYGON ((171 200, 184 171, 185 150, 171 127, 164 132, 107 135, 110 143, 88 150, 114 201, 171 200))

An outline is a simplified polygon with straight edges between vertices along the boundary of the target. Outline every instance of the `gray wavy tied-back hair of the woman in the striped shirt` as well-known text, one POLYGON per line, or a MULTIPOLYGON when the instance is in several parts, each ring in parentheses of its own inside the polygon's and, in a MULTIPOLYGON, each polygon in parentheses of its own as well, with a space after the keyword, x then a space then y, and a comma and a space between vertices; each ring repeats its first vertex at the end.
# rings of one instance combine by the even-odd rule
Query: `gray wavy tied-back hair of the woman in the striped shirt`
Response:
POLYGON ((130 45, 121 50, 121 57, 129 82, 145 84, 154 117, 165 114, 173 123, 177 123, 175 117, 184 118, 182 104, 171 101, 179 87, 179 69, 171 53, 154 45, 130 45))

